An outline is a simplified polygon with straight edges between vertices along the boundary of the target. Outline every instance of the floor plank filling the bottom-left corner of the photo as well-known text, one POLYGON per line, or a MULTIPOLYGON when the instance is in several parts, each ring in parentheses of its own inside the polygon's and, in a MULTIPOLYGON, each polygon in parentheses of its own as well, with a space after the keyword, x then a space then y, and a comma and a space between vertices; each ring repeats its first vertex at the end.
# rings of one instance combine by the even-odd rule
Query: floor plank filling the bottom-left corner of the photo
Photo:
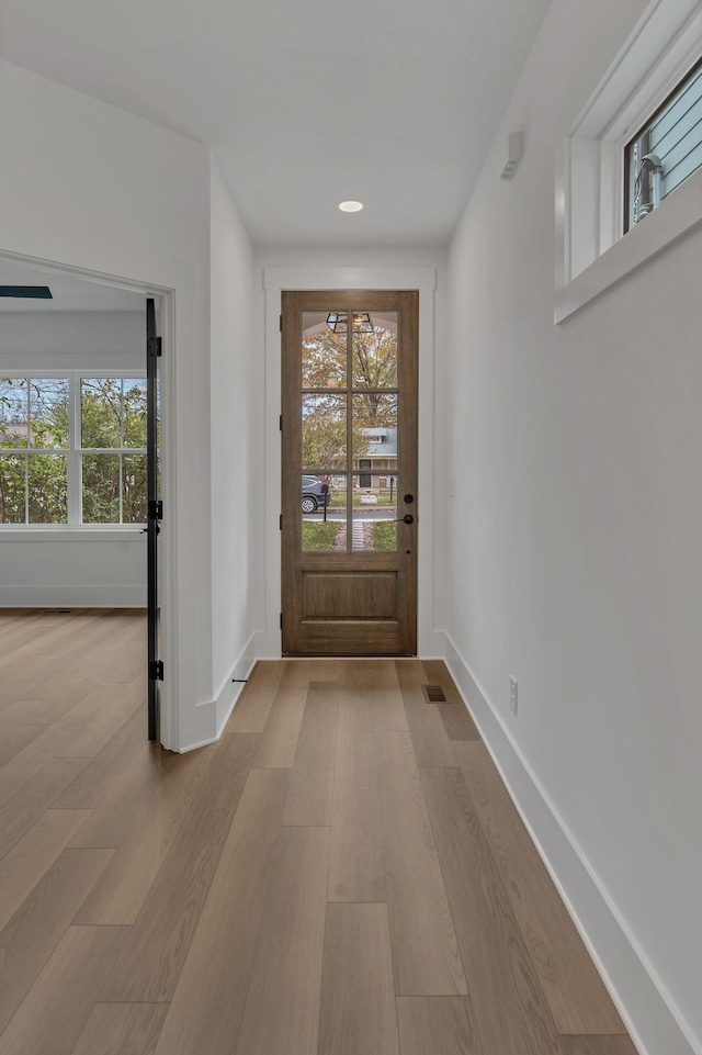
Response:
POLYGON ((0 1035, 0 1055, 72 1055, 124 938, 121 927, 69 927, 0 1035))

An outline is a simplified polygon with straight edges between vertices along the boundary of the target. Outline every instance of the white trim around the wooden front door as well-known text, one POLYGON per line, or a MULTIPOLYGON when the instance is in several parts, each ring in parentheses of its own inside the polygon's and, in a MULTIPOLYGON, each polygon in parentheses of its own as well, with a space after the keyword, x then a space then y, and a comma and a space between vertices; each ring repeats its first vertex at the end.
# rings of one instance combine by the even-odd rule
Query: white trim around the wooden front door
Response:
POLYGON ((418 650, 435 653, 434 629, 434 291, 431 267, 273 267, 263 269, 265 299, 265 608, 257 655, 281 655, 281 293, 283 290, 419 290, 418 650))

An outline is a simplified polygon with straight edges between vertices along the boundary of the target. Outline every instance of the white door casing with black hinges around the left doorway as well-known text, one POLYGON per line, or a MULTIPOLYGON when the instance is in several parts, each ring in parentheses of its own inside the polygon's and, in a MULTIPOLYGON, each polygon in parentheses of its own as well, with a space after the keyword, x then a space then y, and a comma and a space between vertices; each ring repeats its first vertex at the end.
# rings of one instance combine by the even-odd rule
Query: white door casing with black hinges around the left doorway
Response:
MULTIPOLYGON (((143 282, 125 279, 122 276, 106 274, 71 265, 42 260, 16 252, 0 250, 0 260, 22 263, 27 268, 42 271, 56 271, 59 274, 75 274, 98 285, 111 285, 145 298, 144 314, 144 363, 146 367, 146 298, 154 296, 159 302, 159 322, 163 356, 160 367, 161 380, 161 491, 167 515, 159 536, 159 595, 161 602, 161 658, 166 676, 160 692, 160 740, 165 748, 178 750, 178 624, 176 619, 176 569, 177 569, 177 518, 174 516, 176 494, 176 404, 173 399, 176 378, 174 333, 174 291, 160 285, 146 285, 143 282), (166 427, 163 427, 163 424, 166 427)), ((146 540, 146 536, 144 536, 146 540)), ((144 583, 146 586, 146 542, 144 547, 144 583)), ((146 695, 144 697, 144 738, 146 739, 146 695)))

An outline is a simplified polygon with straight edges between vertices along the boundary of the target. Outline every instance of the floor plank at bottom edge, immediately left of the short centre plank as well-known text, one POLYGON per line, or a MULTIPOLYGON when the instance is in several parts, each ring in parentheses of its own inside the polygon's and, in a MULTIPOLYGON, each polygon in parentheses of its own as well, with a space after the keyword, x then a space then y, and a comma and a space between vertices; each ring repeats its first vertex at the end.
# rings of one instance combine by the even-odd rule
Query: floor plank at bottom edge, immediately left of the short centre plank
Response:
POLYGON ((281 828, 237 1055, 317 1055, 328 828, 281 828))

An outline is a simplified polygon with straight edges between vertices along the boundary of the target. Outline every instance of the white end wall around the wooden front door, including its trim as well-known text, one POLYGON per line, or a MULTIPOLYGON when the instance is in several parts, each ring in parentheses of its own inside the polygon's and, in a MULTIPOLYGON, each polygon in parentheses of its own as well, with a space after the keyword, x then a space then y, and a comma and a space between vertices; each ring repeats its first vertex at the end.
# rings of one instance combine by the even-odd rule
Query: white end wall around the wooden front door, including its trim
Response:
POLYGON ((265 389, 265 445, 257 461, 265 480, 265 608, 257 637, 259 655, 280 655, 281 631, 281 352, 280 288, 414 289, 421 281, 419 340, 419 487, 418 487, 418 648, 422 655, 443 652, 445 516, 440 496, 446 490, 443 428, 445 384, 446 250, 260 248, 254 255, 257 296, 257 386, 265 389), (279 278, 273 278, 279 276, 279 278), (409 283, 409 284, 407 284, 409 283), (267 328, 268 327, 268 328, 267 328), (264 457, 263 457, 264 456, 264 457))

